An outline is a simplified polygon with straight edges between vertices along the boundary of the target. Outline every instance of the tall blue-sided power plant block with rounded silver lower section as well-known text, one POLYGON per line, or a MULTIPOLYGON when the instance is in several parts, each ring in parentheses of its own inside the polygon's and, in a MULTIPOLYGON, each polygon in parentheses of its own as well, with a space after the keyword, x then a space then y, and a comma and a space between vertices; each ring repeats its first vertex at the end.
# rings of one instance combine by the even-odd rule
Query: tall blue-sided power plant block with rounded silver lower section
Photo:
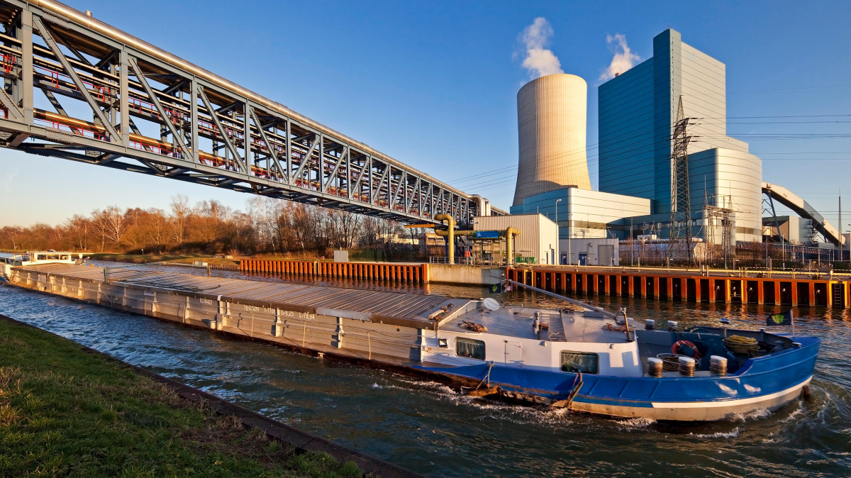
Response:
POLYGON ((670 29, 653 46, 653 58, 599 87, 600 191, 650 199, 654 217, 644 222, 669 229, 671 137, 682 99, 685 117, 693 118, 687 128, 693 236, 705 235, 701 209, 709 205, 734 213, 735 240, 761 241, 762 161, 727 135, 724 64, 670 29))

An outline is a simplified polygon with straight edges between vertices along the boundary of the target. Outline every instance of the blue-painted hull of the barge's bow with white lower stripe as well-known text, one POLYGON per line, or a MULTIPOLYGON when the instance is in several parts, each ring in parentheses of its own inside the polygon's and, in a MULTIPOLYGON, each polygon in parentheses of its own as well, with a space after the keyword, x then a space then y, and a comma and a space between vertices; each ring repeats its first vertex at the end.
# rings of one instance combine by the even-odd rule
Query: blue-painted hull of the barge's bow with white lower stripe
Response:
MULTIPOLYGON (((724 377, 608 377, 586 373, 570 408, 663 420, 718 420, 736 413, 774 410, 797 398, 813 375, 820 340, 797 337, 796 341, 801 348, 748 359, 736 373, 724 377)), ((466 378, 484 378, 488 373, 487 365, 423 368, 466 378)), ((499 364, 490 371, 491 385, 552 401, 566 400, 575 380, 574 373, 499 364)))

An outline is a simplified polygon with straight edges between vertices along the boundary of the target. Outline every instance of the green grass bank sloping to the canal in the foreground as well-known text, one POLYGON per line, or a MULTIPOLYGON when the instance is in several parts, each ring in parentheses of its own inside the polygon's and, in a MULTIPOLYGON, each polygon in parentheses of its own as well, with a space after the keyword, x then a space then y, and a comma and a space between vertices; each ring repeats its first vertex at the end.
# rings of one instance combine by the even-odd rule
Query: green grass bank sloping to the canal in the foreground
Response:
POLYGON ((354 477, 130 367, 0 317, 0 476, 354 477))

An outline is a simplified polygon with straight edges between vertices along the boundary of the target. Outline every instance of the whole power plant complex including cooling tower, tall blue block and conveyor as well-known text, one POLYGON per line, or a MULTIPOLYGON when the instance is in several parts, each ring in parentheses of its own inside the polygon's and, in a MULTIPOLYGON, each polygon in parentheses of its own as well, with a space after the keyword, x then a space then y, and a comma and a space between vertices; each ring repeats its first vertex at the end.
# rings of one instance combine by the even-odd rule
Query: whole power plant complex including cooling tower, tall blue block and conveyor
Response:
MULTIPOLYGON (((608 254, 592 253, 615 239, 669 238, 672 138, 682 102, 691 137, 687 226, 694 239, 707 245, 762 242, 762 194, 768 191, 780 194, 775 200, 788 202, 802 218, 818 221, 802 224, 813 224, 825 241, 841 242, 808 204, 800 200, 796 208, 791 193, 763 183, 762 160, 747 143, 727 135, 725 65, 683 43, 671 29, 654 37, 653 50, 652 58, 598 87, 598 191, 591 189, 585 156, 585 81, 549 75, 520 89, 511 214, 540 213, 557 221, 559 259, 567 255, 570 264, 582 262, 575 250, 590 264, 608 264, 608 254)), ((791 230, 799 228, 785 221, 785 234, 795 236, 791 230)))

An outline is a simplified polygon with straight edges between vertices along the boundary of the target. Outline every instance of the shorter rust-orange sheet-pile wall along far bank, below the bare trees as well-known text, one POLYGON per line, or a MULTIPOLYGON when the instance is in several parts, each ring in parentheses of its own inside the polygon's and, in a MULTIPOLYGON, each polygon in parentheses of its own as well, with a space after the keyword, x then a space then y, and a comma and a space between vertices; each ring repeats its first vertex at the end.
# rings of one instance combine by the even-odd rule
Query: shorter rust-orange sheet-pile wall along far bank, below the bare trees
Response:
POLYGON ((329 262, 317 259, 240 259, 246 272, 311 277, 351 277, 390 282, 429 282, 427 264, 402 262, 329 262))

